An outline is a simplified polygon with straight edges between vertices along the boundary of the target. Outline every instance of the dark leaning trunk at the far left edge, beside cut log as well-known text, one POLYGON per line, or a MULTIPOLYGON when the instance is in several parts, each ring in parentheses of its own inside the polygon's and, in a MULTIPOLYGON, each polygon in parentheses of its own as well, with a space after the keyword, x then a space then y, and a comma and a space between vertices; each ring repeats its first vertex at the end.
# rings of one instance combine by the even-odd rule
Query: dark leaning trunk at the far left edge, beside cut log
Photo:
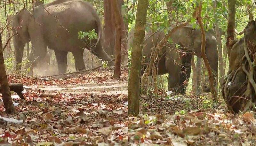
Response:
POLYGON ((12 103, 12 97, 10 93, 9 83, 4 67, 4 54, 3 54, 3 44, 2 37, 0 33, 0 84, 1 84, 1 93, 4 102, 4 108, 8 114, 15 114, 16 109, 12 103))

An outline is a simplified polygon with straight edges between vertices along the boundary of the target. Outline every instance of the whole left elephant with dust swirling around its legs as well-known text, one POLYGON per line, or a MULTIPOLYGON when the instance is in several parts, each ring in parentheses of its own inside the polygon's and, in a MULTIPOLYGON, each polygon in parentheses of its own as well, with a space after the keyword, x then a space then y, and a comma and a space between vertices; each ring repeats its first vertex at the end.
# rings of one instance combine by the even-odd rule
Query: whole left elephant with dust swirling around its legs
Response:
MULTIPOLYGON (((24 46, 31 41, 31 72, 45 57, 47 47, 54 50, 59 73, 67 72, 67 53, 72 52, 76 70, 84 70, 84 48, 102 60, 112 60, 102 48, 101 21, 92 4, 80 0, 56 0, 42 4, 32 10, 22 9, 16 13, 12 23, 16 70, 20 71, 24 46), (91 42, 87 37, 78 38, 78 32, 95 29, 98 39, 91 42), (90 42, 90 44, 88 43, 90 42), (92 46, 93 45, 93 46, 92 46), (90 47, 92 46, 92 47, 90 47)), ((113 63, 109 63, 113 65, 113 63)))

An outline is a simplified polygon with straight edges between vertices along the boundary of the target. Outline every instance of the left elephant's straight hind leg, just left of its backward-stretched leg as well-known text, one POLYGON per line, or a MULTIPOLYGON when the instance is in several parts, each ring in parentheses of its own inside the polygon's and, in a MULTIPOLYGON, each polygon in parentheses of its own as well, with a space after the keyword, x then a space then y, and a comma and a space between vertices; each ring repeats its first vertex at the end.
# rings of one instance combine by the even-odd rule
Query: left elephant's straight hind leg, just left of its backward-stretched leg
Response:
POLYGON ((75 58, 75 65, 76 65, 76 70, 81 71, 81 70, 85 70, 85 65, 84 65, 84 58, 83 58, 83 53, 84 50, 77 50, 77 51, 73 51, 72 54, 75 58))

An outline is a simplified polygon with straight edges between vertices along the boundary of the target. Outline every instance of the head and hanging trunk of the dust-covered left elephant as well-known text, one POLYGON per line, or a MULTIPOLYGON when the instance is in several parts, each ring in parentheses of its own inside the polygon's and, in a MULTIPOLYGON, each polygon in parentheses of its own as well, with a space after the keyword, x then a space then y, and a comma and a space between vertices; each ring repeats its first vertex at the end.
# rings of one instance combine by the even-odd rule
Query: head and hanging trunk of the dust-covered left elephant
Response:
POLYGON ((28 23, 31 17, 32 14, 27 9, 22 9, 16 13, 11 23, 12 32, 15 34, 13 36, 13 43, 17 71, 21 70, 23 50, 25 44, 29 42, 28 23))

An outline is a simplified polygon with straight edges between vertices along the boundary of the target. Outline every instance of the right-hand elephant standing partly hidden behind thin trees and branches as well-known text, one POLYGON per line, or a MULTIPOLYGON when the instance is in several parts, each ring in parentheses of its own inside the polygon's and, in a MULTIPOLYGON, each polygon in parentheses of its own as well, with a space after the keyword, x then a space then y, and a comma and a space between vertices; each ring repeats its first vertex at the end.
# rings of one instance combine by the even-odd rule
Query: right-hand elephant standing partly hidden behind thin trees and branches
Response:
MULTIPOLYGON (((146 42, 143 45, 143 56, 145 62, 149 62, 152 48, 156 47, 165 36, 164 31, 158 31, 152 35, 145 35, 146 42)), ((156 65, 157 75, 168 73, 168 91, 172 90, 180 94, 186 92, 186 81, 188 82, 191 72, 192 54, 201 56, 201 31, 191 26, 185 26, 171 35, 172 43, 166 44, 158 57, 156 65), (176 44, 179 45, 176 48, 176 44)), ((214 83, 217 86, 218 79, 218 50, 217 41, 212 30, 205 32, 206 56, 214 73, 214 83)), ((130 37, 130 36, 129 36, 130 37)), ((130 41, 132 43, 132 41, 130 41)), ((145 66, 144 66, 145 69, 145 66)), ((143 73, 143 70, 142 70, 143 73)), ((210 87, 203 85, 204 92, 210 92, 210 87)))

